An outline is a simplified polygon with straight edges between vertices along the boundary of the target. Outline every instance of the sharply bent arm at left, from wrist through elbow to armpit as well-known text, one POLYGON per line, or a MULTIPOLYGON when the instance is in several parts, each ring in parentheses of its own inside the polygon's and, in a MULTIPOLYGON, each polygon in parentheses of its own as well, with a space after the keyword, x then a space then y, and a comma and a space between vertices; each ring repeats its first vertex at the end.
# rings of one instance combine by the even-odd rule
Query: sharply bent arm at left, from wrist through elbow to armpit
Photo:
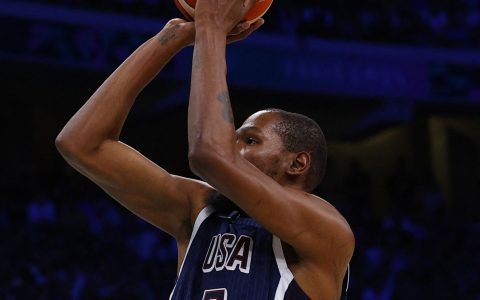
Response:
POLYGON ((137 95, 179 50, 193 43, 194 36, 193 23, 170 21, 115 70, 56 139, 70 165, 133 213, 177 238, 188 233, 188 220, 196 213, 191 195, 202 197, 209 188, 168 174, 120 142, 119 136, 137 95))

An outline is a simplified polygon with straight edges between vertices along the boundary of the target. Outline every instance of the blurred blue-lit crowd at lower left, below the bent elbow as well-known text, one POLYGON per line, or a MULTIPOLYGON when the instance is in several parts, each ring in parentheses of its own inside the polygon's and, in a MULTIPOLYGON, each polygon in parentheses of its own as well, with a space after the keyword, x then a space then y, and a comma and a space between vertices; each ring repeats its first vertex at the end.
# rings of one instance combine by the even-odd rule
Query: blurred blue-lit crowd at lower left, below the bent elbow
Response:
POLYGON ((0 299, 167 299, 175 241, 70 175, 1 195, 0 299))

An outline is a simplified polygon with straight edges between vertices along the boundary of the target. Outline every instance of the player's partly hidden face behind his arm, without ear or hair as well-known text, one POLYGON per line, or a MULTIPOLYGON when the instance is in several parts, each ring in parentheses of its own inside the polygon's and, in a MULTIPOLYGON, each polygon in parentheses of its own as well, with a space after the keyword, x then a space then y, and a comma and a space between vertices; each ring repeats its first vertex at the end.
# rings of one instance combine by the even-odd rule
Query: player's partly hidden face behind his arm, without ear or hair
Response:
POLYGON ((283 175, 288 154, 274 129, 279 119, 278 113, 259 111, 237 130, 240 155, 277 181, 283 175))

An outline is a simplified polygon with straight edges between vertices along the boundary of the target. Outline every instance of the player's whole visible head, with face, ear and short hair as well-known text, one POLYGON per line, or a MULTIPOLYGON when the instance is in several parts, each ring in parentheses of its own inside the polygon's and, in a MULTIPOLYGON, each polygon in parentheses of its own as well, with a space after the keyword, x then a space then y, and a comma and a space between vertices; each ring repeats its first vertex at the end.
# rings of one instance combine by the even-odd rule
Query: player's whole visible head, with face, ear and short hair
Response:
POLYGON ((311 192, 322 181, 327 146, 312 119, 266 109, 251 115, 237 134, 240 154, 278 183, 311 192))

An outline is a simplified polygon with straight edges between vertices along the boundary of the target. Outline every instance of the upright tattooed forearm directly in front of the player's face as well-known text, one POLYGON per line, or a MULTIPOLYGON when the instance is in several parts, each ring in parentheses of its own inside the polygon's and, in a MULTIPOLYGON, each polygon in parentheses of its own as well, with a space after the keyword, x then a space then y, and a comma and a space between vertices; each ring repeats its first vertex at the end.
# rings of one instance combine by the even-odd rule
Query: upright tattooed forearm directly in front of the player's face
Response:
POLYGON ((225 51, 224 34, 197 29, 188 114, 190 153, 194 155, 203 150, 229 154, 234 147, 225 51))

